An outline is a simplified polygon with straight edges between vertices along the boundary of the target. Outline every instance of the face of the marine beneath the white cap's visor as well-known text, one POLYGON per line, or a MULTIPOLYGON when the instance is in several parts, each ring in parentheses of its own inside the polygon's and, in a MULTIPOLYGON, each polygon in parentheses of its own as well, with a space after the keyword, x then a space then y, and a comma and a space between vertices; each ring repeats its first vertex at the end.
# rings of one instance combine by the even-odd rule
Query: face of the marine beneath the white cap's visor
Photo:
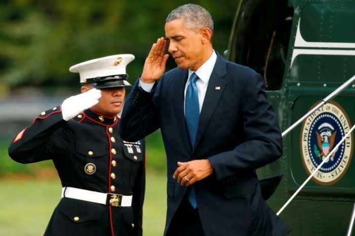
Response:
POLYGON ((101 97, 98 99, 98 103, 91 108, 98 113, 109 116, 120 113, 126 93, 124 87, 100 90, 101 97))

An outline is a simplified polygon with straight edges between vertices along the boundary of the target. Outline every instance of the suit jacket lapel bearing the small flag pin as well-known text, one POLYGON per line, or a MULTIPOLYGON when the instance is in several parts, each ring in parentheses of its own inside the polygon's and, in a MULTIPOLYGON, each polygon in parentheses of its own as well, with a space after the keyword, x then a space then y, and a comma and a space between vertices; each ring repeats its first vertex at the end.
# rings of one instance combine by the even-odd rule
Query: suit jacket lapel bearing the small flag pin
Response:
POLYGON ((204 97, 202 109, 200 112, 200 120, 198 123, 195 146, 193 148, 193 151, 197 147, 202 137, 202 134, 204 133, 208 122, 223 94, 224 88, 227 85, 227 83, 222 80, 222 77, 226 74, 226 61, 223 59, 223 57, 217 54, 217 61, 211 73, 211 76, 209 77, 206 95, 204 97), (220 87, 220 89, 216 89, 216 87, 220 87))

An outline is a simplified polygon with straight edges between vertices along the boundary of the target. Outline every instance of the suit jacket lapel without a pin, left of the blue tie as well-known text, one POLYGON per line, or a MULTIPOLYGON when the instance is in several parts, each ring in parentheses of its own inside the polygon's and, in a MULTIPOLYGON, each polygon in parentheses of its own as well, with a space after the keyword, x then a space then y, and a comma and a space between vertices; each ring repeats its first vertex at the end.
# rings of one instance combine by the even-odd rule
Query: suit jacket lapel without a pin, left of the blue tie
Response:
POLYGON ((192 153, 192 147, 190 144, 189 134, 187 131, 187 126, 185 122, 185 112, 184 112, 184 100, 185 100, 185 86, 187 82, 187 77, 189 73, 188 70, 182 70, 181 73, 177 74, 174 82, 173 90, 173 109, 175 109, 175 119, 179 126, 183 142, 189 153, 192 153))

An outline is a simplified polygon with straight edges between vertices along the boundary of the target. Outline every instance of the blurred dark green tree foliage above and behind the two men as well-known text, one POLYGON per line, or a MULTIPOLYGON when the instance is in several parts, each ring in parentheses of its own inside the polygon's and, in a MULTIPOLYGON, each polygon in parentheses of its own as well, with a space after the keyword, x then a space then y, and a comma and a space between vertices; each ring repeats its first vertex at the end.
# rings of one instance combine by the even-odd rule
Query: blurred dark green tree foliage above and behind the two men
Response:
MULTIPOLYGON (((21 86, 76 86, 74 64, 130 53, 134 82, 151 45, 164 36, 165 18, 178 6, 206 8, 215 22, 214 48, 227 49, 237 1, 182 0, 2 0, 0 3, 0 82, 21 86)), ((170 58, 168 69, 175 67, 170 58)))

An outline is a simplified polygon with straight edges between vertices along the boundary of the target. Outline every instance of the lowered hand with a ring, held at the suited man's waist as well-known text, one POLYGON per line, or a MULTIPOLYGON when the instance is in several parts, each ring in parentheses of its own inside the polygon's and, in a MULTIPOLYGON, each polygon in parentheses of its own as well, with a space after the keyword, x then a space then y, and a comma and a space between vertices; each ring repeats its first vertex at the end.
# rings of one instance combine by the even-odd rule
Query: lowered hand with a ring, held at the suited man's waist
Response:
POLYGON ((211 163, 208 159, 177 162, 177 165, 179 167, 176 169, 173 178, 177 178, 177 182, 185 186, 190 186, 213 173, 211 163))

